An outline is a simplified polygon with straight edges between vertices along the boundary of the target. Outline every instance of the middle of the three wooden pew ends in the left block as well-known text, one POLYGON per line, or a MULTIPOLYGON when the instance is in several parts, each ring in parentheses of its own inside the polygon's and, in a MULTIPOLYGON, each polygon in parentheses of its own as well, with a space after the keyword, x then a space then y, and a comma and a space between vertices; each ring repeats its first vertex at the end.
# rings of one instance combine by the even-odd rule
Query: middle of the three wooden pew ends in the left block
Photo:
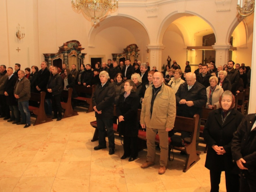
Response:
POLYGON ((63 118, 67 118, 67 117, 72 117, 72 116, 78 115, 77 112, 74 111, 73 108, 72 108, 72 104, 71 104, 72 92, 73 92, 72 88, 69 88, 68 91, 63 90, 61 92, 61 97, 68 98, 67 102, 61 102, 61 107, 63 109, 65 109, 63 118))

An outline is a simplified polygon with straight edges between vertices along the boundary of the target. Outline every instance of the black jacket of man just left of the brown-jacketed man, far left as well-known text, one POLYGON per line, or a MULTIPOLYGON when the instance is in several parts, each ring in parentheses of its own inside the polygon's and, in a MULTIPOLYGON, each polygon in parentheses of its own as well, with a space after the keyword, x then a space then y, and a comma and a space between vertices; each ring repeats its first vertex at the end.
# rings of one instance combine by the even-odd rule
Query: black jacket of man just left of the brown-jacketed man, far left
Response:
POLYGON ((7 92, 8 96, 6 97, 7 105, 18 105, 17 99, 14 97, 14 86, 18 80, 16 75, 12 75, 11 78, 7 79, 5 84, 5 91, 7 92))

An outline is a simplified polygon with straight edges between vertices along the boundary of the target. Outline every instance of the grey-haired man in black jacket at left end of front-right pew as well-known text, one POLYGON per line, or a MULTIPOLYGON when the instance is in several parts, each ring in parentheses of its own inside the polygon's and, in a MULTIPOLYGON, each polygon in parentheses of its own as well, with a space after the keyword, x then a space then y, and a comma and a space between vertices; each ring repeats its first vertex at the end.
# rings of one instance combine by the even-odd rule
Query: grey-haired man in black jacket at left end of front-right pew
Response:
POLYGON ((92 96, 97 129, 99 131, 99 145, 94 150, 106 148, 105 129, 109 138, 109 154, 115 153, 115 136, 113 131, 115 87, 109 81, 109 73, 102 71, 99 74, 101 84, 97 84, 92 96))

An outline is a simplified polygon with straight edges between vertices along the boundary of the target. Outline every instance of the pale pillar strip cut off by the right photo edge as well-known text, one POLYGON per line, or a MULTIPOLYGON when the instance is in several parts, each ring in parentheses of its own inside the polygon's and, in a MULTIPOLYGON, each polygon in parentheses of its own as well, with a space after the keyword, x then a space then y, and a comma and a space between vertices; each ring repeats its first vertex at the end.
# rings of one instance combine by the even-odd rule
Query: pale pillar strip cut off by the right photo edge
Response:
POLYGON ((251 54, 251 84, 250 84, 250 96, 249 96, 249 109, 248 114, 256 113, 256 14, 254 13, 254 24, 253 24, 253 40, 252 40, 252 54, 251 54))

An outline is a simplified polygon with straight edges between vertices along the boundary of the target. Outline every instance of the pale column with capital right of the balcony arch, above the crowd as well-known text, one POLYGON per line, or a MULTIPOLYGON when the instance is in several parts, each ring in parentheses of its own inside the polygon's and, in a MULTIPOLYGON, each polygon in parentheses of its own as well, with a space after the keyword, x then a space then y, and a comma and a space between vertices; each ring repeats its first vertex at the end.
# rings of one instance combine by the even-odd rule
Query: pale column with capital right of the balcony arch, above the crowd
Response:
POLYGON ((228 51, 230 48, 230 45, 213 45, 212 48, 216 51, 216 58, 215 63, 216 67, 223 66, 227 64, 228 61, 228 51))

